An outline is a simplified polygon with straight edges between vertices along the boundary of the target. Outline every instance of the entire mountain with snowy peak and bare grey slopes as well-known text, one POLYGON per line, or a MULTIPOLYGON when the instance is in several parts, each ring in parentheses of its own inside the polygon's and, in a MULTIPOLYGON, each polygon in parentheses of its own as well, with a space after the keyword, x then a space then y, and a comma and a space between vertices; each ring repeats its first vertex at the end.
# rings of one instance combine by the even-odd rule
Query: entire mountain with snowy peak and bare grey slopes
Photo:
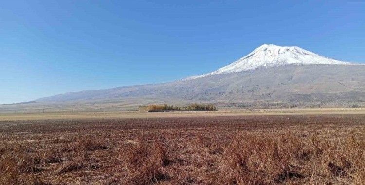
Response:
POLYGON ((347 106, 365 102, 365 66, 298 47, 263 45, 219 70, 163 84, 87 90, 37 102, 120 100, 241 106, 347 106))

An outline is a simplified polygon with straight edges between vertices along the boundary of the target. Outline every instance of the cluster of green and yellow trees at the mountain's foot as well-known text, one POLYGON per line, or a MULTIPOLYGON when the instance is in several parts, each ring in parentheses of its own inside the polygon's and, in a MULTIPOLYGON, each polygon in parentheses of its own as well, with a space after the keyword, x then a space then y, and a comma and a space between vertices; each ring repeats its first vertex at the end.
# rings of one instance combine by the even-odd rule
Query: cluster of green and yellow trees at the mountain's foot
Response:
POLYGON ((140 111, 195 111, 195 110, 205 110, 205 111, 216 111, 216 106, 212 104, 191 104, 187 107, 178 106, 167 106, 164 105, 147 105, 138 107, 140 111))

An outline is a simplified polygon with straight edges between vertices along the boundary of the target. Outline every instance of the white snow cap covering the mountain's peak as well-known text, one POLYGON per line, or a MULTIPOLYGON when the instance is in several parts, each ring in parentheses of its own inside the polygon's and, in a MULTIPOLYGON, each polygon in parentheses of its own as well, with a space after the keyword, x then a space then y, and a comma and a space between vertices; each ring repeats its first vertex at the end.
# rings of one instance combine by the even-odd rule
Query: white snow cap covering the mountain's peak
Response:
POLYGON ((335 64, 354 65, 350 62, 342 62, 317 55, 297 46, 276 46, 274 44, 264 44, 256 48, 253 52, 238 59, 230 65, 219 68, 217 71, 185 78, 191 80, 215 74, 226 74, 254 70, 259 67, 275 67, 288 64, 309 65, 309 64, 335 64))

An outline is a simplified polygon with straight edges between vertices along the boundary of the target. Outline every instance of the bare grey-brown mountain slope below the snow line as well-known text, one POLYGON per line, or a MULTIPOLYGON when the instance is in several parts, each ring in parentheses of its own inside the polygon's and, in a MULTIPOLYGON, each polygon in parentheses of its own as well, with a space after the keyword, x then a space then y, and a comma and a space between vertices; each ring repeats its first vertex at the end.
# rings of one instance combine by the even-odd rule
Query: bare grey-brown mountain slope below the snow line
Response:
POLYGON ((365 101, 365 66, 289 65, 164 84, 60 94, 37 102, 146 98, 239 106, 343 106, 365 101))

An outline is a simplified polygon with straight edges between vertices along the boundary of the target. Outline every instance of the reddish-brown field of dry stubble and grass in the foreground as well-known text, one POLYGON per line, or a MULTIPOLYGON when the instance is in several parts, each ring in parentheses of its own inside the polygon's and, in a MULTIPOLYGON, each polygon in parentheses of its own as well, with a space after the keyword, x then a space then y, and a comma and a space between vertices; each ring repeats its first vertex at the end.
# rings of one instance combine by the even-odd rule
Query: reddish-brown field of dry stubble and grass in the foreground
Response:
POLYGON ((0 184, 365 184, 365 114, 200 113, 1 115, 0 184))

